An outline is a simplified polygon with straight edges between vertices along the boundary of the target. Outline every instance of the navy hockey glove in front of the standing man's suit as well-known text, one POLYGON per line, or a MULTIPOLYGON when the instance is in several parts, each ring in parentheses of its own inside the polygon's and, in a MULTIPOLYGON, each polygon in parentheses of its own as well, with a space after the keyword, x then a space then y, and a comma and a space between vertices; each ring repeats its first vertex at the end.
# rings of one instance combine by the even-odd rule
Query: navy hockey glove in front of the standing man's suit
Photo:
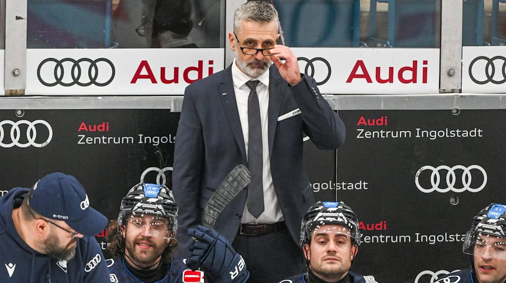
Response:
POLYGON ((188 229, 188 234, 195 239, 190 245, 190 258, 186 260, 189 268, 201 268, 204 276, 208 276, 213 282, 246 282, 249 277, 246 263, 225 237, 202 225, 198 225, 196 229, 188 229))

